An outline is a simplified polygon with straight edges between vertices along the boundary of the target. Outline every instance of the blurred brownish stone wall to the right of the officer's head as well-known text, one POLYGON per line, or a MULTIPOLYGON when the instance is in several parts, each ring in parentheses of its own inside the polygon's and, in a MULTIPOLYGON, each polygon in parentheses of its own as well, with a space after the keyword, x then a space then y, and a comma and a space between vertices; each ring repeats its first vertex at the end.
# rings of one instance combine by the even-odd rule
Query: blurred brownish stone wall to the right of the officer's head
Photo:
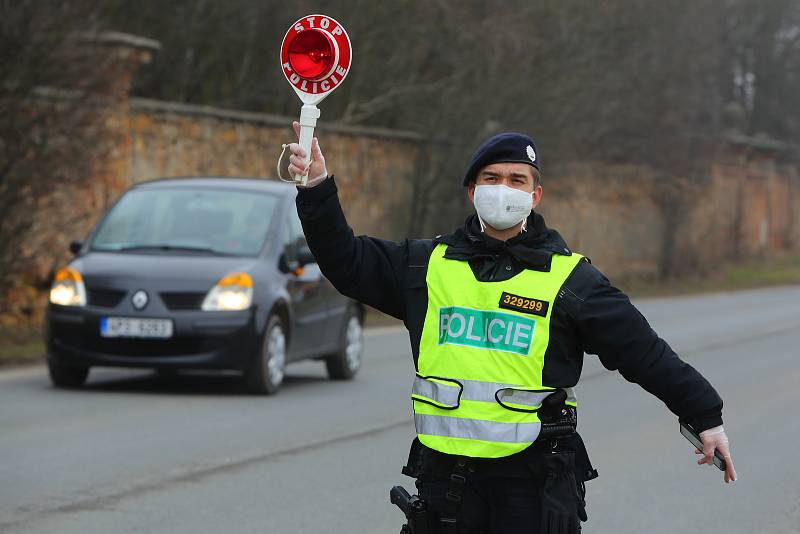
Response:
POLYGON ((571 165, 547 180, 540 211, 613 278, 705 274, 720 262, 800 253, 800 178, 776 163, 776 149, 725 139, 705 173, 669 184, 637 166, 571 165))

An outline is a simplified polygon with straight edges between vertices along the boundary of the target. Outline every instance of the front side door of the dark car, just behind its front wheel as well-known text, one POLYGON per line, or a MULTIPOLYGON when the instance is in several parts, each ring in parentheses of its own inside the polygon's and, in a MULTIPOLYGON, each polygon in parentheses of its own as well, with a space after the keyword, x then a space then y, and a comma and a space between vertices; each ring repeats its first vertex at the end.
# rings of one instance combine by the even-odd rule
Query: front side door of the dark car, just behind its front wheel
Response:
MULTIPOLYGON (((307 246, 303 227, 297 212, 288 210, 284 226, 284 254, 290 266, 297 265, 297 252, 307 246)), ((319 266, 309 264, 295 273, 289 273, 287 291, 292 299, 294 324, 292 325, 292 357, 303 357, 318 352, 329 337, 328 298, 330 286, 319 270, 319 266)))

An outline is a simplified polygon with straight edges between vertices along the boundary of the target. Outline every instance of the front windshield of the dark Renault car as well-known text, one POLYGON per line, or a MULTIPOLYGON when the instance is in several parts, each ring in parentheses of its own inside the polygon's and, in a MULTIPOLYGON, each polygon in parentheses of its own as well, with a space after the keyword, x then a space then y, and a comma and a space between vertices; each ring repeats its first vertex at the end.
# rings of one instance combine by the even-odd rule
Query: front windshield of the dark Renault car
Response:
POLYGON ((277 206, 276 196, 251 191, 134 189, 103 219, 91 249, 257 256, 277 206))

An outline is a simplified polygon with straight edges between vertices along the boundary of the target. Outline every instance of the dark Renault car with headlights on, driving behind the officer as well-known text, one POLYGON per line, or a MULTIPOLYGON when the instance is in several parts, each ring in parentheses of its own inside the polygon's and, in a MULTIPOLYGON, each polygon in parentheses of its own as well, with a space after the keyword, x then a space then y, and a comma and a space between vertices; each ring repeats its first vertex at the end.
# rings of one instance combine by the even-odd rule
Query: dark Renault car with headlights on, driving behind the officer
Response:
POLYGON ((360 304, 308 249, 289 184, 174 178, 129 189, 53 280, 50 378, 79 387, 92 366, 236 369, 273 393, 289 362, 361 366, 360 304))

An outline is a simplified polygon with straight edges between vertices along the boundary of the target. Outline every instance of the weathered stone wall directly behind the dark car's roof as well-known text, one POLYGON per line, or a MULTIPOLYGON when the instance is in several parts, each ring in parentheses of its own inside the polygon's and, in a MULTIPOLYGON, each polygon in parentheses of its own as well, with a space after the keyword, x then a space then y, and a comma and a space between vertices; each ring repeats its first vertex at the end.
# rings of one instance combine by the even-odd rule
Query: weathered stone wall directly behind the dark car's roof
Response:
MULTIPOLYGON (((299 105, 298 105, 299 109, 299 105)), ((324 109, 323 109, 324 113, 324 109)), ((292 118, 132 99, 124 183, 168 176, 277 180, 292 118)), ((419 137, 410 132, 320 121, 317 133, 356 232, 399 237, 419 137)))

